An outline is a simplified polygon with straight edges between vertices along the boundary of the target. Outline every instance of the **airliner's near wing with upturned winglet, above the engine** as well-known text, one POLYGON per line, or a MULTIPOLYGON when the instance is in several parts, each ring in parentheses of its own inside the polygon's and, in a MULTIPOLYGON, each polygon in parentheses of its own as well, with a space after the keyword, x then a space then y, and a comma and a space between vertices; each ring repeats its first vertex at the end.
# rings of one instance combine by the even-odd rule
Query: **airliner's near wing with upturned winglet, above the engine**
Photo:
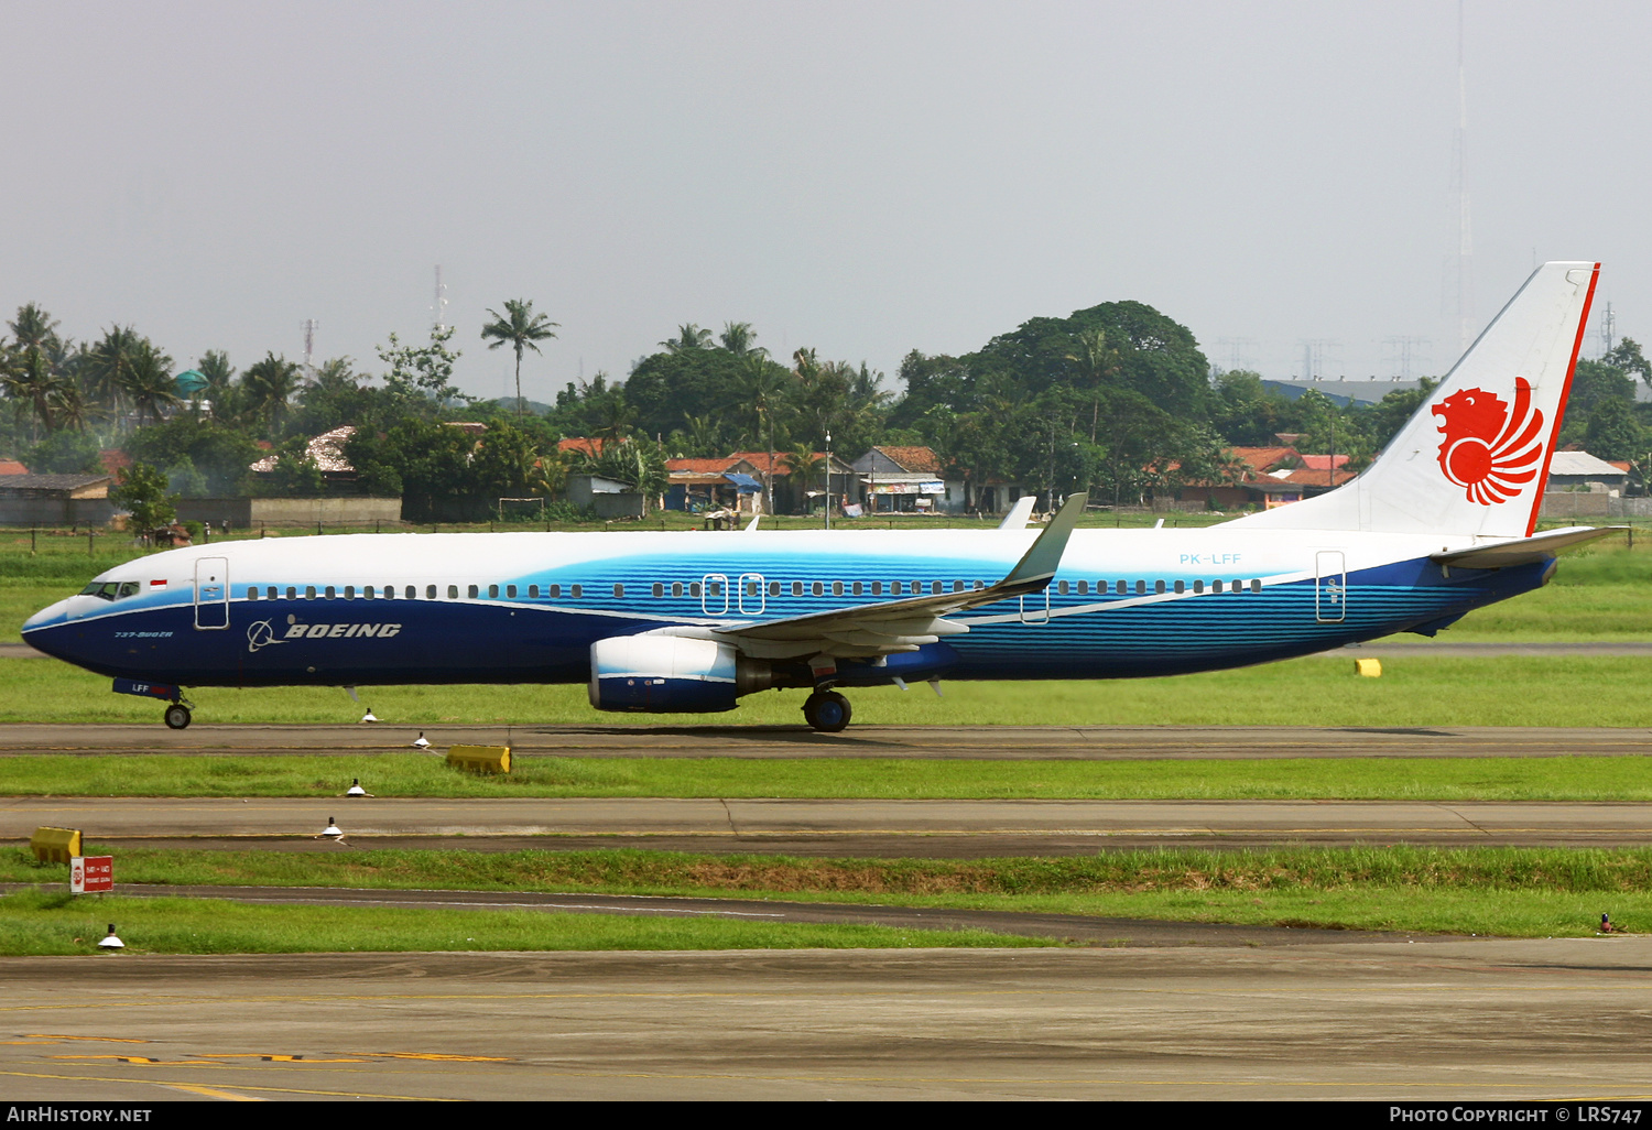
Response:
POLYGON ((838 658, 917 651, 922 644, 935 643, 942 636, 970 631, 968 624, 945 620, 950 613, 1044 591, 1044 586, 1056 577, 1061 557, 1067 550, 1067 537, 1079 522, 1079 515, 1084 514, 1085 501, 1084 494, 1069 496, 1044 532, 1016 562, 1016 567, 1001 582, 985 588, 834 608, 757 624, 732 624, 714 628, 710 634, 714 639, 738 644, 747 654, 770 658, 809 651, 838 658))

